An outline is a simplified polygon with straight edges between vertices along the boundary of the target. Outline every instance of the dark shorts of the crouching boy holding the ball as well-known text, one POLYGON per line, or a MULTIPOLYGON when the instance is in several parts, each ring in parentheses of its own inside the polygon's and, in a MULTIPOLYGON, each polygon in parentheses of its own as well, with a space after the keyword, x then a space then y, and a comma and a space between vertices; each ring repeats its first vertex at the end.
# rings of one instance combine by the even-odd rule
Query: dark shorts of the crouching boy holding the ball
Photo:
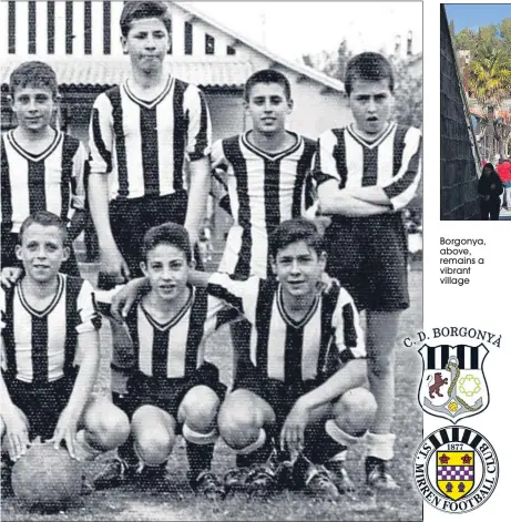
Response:
POLYGON ((53 437, 59 417, 73 390, 74 380, 74 376, 42 385, 17 379, 6 380, 12 402, 27 416, 30 440, 38 436, 43 441, 53 437))

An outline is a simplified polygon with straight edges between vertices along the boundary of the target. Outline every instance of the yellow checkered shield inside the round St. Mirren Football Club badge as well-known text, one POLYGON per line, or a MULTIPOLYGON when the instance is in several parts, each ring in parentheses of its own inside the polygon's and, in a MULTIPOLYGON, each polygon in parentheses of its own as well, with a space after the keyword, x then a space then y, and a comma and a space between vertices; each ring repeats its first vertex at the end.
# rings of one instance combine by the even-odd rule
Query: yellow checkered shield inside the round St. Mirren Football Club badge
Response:
POLYGON ((451 500, 473 488, 473 451, 437 451, 437 485, 451 500))

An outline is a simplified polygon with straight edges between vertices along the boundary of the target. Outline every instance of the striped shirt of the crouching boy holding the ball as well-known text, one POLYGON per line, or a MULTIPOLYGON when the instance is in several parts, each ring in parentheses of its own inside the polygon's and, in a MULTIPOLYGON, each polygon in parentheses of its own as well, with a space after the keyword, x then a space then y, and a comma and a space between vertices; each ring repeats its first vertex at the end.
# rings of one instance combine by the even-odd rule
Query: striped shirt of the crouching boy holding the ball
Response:
POLYGON ((30 306, 21 282, 0 289, 1 367, 10 379, 44 383, 68 375, 78 336, 101 327, 92 285, 63 274, 58 277, 55 295, 44 310, 30 306))

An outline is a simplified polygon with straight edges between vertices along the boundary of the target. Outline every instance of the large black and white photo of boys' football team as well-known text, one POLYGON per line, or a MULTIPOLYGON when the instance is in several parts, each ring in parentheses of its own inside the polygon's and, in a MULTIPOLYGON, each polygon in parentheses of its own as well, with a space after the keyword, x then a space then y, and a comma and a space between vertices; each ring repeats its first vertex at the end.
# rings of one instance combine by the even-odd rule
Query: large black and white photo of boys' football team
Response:
POLYGON ((2 520, 422 520, 422 3, 0 11, 2 520))

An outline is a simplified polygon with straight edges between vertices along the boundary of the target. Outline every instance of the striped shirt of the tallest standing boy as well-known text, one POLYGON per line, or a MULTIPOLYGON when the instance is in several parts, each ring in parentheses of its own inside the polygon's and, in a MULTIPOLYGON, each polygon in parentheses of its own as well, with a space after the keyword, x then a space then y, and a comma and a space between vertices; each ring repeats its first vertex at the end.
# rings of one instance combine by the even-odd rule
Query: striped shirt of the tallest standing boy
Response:
POLYGON ((187 188, 185 161, 211 152, 206 100, 168 76, 152 101, 127 81, 100 94, 90 124, 91 173, 109 174, 110 199, 164 196, 187 188))

